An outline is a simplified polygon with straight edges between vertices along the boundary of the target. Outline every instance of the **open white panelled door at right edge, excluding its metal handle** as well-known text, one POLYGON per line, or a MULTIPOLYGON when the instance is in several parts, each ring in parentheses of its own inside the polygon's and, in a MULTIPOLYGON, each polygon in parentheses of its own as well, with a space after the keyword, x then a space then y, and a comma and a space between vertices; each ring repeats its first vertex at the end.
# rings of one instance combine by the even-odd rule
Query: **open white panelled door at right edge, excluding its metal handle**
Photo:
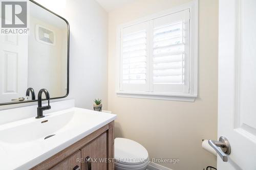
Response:
POLYGON ((218 136, 229 140, 218 170, 256 169, 256 1, 219 1, 218 136))

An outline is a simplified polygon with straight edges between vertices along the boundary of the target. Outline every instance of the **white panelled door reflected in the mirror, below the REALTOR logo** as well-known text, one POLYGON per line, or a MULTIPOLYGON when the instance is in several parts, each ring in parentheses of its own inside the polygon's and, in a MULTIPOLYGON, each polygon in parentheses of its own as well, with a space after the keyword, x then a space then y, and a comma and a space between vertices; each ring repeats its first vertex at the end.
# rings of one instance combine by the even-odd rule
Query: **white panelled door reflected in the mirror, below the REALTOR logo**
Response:
POLYGON ((0 103, 26 96, 28 36, 0 36, 0 103))

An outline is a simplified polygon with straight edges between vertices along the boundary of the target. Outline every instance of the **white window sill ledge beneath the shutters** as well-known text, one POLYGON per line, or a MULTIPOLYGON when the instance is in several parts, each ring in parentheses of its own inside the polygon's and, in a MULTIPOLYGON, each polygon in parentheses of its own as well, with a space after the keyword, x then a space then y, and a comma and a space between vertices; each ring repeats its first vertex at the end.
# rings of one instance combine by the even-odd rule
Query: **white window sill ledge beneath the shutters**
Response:
POLYGON ((153 92, 127 92, 117 91, 117 96, 123 98, 141 98, 167 101, 195 102, 197 95, 178 93, 153 93, 153 92))

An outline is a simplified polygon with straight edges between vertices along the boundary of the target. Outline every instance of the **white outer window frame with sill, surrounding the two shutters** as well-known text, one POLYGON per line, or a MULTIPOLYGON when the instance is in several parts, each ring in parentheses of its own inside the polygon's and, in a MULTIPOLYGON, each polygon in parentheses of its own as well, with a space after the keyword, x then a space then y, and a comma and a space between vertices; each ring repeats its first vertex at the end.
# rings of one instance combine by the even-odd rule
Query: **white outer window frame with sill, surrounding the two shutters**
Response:
POLYGON ((117 48, 116 48, 116 93, 120 97, 173 100, 194 102, 198 93, 198 0, 165 10, 147 17, 137 19, 132 22, 124 23, 117 28, 117 48), (136 25, 141 22, 156 19, 162 16, 170 15, 182 10, 190 11, 190 43, 189 43, 189 92, 188 93, 167 93, 167 92, 143 92, 143 91, 121 91, 120 90, 120 41, 123 28, 136 25))

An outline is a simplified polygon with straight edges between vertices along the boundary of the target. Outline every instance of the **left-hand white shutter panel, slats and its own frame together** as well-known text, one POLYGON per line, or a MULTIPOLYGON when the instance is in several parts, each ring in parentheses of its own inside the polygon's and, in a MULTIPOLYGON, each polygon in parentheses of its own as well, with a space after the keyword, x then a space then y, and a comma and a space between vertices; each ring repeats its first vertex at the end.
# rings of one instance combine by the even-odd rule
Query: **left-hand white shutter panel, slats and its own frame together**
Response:
POLYGON ((124 28, 121 32, 122 90, 148 89, 148 22, 124 28))

